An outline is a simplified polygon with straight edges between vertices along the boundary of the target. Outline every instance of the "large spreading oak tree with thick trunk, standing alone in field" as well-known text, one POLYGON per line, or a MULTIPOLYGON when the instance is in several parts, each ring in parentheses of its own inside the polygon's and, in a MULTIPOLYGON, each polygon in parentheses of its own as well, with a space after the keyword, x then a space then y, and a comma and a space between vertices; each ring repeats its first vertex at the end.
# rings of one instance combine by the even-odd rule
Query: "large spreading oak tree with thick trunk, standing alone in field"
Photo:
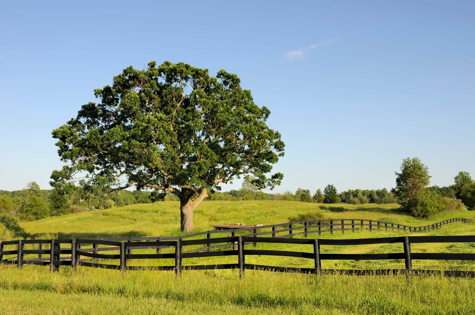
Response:
POLYGON ((52 132, 67 163, 53 171, 53 186, 75 183, 96 195, 132 186, 158 197, 170 192, 180 198, 181 230, 191 231, 193 210, 220 183, 253 175, 256 187, 280 185, 283 174, 268 174, 284 142, 236 74, 150 62, 94 93, 100 102, 52 132))

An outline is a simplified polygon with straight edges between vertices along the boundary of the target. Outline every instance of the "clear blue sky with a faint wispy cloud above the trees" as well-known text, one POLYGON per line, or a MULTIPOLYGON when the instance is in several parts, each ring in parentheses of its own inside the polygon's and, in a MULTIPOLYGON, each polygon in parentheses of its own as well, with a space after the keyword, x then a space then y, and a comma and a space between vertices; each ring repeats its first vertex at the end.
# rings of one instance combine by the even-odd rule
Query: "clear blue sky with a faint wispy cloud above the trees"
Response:
POLYGON ((286 144, 276 192, 390 188, 405 157, 475 176, 474 1, 198 2, 2 1, 0 189, 49 188, 51 131, 151 60, 241 78, 286 144))

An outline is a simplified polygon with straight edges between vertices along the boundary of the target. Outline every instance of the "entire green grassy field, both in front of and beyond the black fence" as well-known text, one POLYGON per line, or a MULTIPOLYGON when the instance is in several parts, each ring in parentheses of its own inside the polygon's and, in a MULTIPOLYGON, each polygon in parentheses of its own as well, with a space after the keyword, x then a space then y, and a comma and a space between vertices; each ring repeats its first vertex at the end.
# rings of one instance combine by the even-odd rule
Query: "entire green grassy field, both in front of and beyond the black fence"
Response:
MULTIPOLYGON (((426 225, 452 217, 473 218, 473 212, 440 213, 418 220, 401 213, 399 206, 346 205, 328 207, 298 202, 203 202, 195 211, 196 231, 215 223, 279 223, 309 211, 325 218, 361 218, 426 225)), ((34 237, 114 237, 180 235, 178 203, 136 204, 104 211, 70 214, 22 226, 34 237)), ((455 223, 411 235, 474 235, 475 224, 455 223)), ((358 231, 322 234, 322 238, 363 238, 402 235, 392 231, 358 231)), ((315 234, 313 234, 315 235, 315 234)), ((253 249, 247 245, 247 249, 253 249)), ((265 244, 258 249, 305 250, 308 245, 265 244)), ((170 249, 171 250, 171 249, 170 249)), ((413 244, 413 252, 475 252, 475 244, 413 244)), ((147 250, 141 250, 146 252, 147 250)), ((154 250, 152 250, 154 251, 154 250)), ((151 251, 151 252, 152 252, 151 251)), ((322 246, 323 253, 401 252, 401 244, 322 246)), ((112 253, 112 252, 109 252, 112 253)), ((135 253, 135 251, 134 251, 135 253)), ((138 253, 138 251, 137 251, 138 253)), ((129 265, 173 265, 173 259, 129 261, 129 265)), ((237 257, 183 259, 184 265, 237 262, 237 257)), ((312 259, 247 256, 247 263, 313 268, 312 259)), ((322 262, 324 269, 404 268, 402 260, 351 260, 322 262)), ((475 270, 473 261, 414 260, 414 269, 475 270)), ((127 271, 79 267, 0 266, 0 296, 4 314, 474 314, 475 281, 472 278, 417 276, 332 276, 247 270, 127 271)))

